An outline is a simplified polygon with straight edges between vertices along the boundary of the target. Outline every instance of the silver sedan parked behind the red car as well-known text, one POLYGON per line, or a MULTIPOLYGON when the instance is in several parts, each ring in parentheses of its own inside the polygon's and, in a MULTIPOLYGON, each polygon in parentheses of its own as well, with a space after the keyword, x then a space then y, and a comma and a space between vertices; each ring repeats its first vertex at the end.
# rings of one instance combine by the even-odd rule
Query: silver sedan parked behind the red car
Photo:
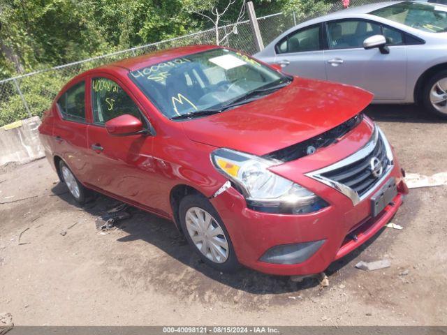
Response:
POLYGON ((389 1, 309 20, 254 55, 284 72, 351 84, 374 103, 422 103, 447 118, 447 6, 389 1))

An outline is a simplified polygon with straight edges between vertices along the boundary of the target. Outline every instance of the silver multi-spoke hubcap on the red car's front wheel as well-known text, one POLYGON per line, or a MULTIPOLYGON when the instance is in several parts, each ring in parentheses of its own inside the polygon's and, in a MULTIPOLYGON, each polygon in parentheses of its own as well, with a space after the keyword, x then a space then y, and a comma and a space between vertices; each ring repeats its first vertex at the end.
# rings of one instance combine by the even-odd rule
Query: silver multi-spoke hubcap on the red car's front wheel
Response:
POLYGON ((186 211, 186 229, 198 251, 215 263, 223 263, 228 258, 228 241, 217 220, 199 207, 186 211))

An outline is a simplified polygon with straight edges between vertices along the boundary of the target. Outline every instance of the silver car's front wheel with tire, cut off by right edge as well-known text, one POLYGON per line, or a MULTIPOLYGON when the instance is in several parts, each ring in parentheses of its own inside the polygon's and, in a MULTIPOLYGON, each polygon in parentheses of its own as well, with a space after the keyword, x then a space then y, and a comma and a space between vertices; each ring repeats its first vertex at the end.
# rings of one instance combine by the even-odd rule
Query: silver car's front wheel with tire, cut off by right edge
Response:
POLYGON ((447 70, 433 75, 426 82, 423 88, 423 103, 429 112, 447 119, 447 70))

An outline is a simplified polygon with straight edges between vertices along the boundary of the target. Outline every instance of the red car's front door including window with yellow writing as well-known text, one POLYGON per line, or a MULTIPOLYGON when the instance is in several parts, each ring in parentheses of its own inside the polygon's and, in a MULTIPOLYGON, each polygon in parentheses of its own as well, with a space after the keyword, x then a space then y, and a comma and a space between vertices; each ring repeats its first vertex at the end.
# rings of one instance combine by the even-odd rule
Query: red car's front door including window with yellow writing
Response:
POLYGON ((89 184, 119 198, 145 207, 154 203, 157 190, 153 136, 112 136, 105 122, 123 114, 131 114, 149 127, 141 106, 119 80, 107 74, 91 78, 92 122, 88 126, 88 147, 91 161, 89 184))

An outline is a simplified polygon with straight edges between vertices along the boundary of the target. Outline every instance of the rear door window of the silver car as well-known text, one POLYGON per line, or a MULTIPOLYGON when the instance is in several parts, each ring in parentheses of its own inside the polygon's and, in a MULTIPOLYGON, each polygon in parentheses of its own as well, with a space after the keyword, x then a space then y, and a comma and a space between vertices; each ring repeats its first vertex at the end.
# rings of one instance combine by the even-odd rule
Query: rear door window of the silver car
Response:
POLYGON ((295 31, 277 44, 277 53, 305 52, 321 50, 321 26, 313 26, 295 31))

